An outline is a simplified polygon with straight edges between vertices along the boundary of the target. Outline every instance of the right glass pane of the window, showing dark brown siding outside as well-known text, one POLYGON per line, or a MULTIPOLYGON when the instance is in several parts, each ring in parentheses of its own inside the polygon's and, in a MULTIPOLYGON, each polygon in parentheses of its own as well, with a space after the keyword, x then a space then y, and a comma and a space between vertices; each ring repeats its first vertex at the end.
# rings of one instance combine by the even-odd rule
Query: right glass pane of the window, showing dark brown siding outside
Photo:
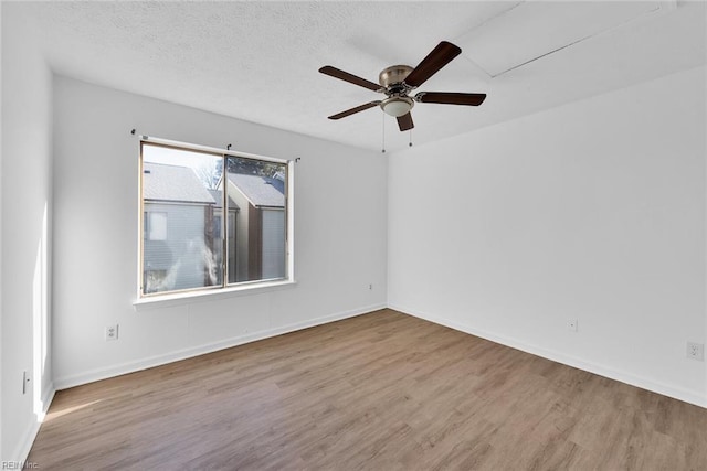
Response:
POLYGON ((285 278, 286 178, 283 163, 226 158, 229 282, 285 278))

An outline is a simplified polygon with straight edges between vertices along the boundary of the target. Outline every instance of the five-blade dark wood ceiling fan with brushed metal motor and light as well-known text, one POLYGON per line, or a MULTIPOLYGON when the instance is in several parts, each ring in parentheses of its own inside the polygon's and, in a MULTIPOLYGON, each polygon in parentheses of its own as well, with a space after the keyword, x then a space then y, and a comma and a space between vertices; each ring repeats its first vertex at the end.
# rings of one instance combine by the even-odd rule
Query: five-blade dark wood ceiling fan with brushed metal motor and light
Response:
POLYGON ((381 71, 378 76, 378 84, 366 78, 344 72, 330 65, 319 68, 319 72, 331 77, 349 82, 354 85, 379 92, 387 95, 382 100, 369 101, 346 111, 329 116, 329 119, 341 119, 365 109, 380 106, 383 113, 398 118, 398 127, 401 131, 414 128, 410 110, 416 103, 439 103, 445 105, 478 106, 486 99, 486 94, 466 94, 447 92, 420 92, 414 96, 410 93, 425 83, 436 74, 442 67, 460 55, 462 50, 446 41, 442 41, 432 50, 416 67, 409 65, 392 65, 381 71))

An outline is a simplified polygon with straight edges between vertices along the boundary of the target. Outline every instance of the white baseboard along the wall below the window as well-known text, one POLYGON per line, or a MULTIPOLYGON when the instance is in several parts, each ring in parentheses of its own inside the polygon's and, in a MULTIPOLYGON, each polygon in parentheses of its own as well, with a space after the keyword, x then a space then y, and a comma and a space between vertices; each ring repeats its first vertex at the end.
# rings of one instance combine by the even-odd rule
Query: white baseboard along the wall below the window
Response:
POLYGON ((122 363, 122 364, 108 366, 105 368, 92 370, 92 371, 80 373, 76 375, 54 378, 54 385, 56 387, 56 390, 66 389, 70 387, 80 386, 82 384, 93 383, 95 381, 106 379, 109 377, 119 376, 127 373, 134 373, 141 370, 165 365, 167 363, 178 362, 180 360, 191 358, 193 356, 217 352, 223 349, 230 349, 232 346, 242 345, 244 343, 255 342, 255 341, 267 339, 271 336, 282 335, 284 333, 294 332, 302 329, 307 329, 315 325, 338 321, 341 319, 366 314, 366 313, 377 311, 379 309, 384 309, 384 308, 386 308, 384 303, 371 304, 371 306, 366 306, 359 309, 324 315, 321 318, 309 319, 303 322, 296 322, 293 324, 282 325, 274 329, 252 332, 246 335, 239 335, 235 338, 226 339, 226 340, 214 342, 214 343, 209 343, 205 345, 194 346, 190 349, 166 353, 162 355, 151 356, 149 358, 143 358, 139 361, 122 363))

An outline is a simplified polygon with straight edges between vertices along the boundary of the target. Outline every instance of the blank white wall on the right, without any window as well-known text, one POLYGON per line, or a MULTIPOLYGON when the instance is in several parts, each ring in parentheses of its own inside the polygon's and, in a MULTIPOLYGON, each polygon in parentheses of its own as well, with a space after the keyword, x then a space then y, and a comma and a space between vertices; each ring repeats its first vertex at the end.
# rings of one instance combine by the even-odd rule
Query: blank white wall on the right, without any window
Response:
POLYGON ((705 83, 391 154, 389 306, 707 406, 705 83))

